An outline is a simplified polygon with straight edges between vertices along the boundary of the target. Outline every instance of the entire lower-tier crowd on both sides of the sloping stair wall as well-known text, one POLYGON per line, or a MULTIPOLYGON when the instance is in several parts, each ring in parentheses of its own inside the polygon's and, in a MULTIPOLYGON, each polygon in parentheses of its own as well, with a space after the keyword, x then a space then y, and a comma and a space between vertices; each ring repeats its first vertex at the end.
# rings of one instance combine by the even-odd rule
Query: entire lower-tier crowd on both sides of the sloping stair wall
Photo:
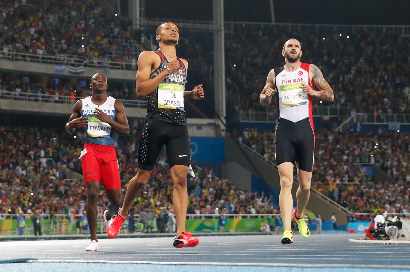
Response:
MULTIPOLYGON (((73 138, 53 129, 1 127, 0 134, 1 213, 15 214, 19 210, 30 213, 33 209, 45 214, 82 213, 87 202, 84 182, 64 181, 67 177, 64 169, 82 172, 77 158, 84 133, 77 132, 73 138)), ((312 188, 355 212, 410 211, 410 171, 408 159, 405 159, 410 145, 408 135, 380 134, 369 138, 357 134, 352 142, 351 136, 319 131, 317 138, 312 188), (375 149, 376 143, 378 148, 375 149), (376 163, 382 168, 389 165, 396 184, 375 184, 360 166, 352 167, 360 162, 376 163)), ((274 152, 272 134, 244 131, 238 139, 257 151, 263 150, 263 155, 271 156, 270 152, 274 152)), ((123 190, 137 171, 137 142, 137 137, 119 141, 116 147, 123 190)), ((269 156, 265 158, 272 159, 269 156)), ((135 211, 153 209, 161 213, 171 209, 173 183, 165 152, 160 154, 148 184, 133 203, 135 211)), ((241 191, 231 181, 216 178, 212 170, 206 168, 197 170, 196 177, 189 179, 188 193, 188 214, 278 212, 271 198, 249 190, 241 191)), ((99 209, 104 209, 107 202, 101 190, 99 209)))

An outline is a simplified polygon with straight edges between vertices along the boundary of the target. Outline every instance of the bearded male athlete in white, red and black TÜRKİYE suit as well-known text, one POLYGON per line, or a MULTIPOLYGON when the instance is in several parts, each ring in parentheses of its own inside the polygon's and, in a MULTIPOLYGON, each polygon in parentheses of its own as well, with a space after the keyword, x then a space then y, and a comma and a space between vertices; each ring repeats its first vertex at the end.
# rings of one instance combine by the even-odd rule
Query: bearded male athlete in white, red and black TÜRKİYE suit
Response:
POLYGON ((260 94, 262 105, 271 103, 278 93, 278 118, 275 130, 275 157, 280 177, 279 205, 285 232, 281 243, 293 243, 292 217, 298 224, 301 235, 309 237, 307 219, 303 212, 310 196, 310 182, 314 159, 314 127, 312 118, 312 97, 333 101, 333 90, 314 64, 301 63, 301 43, 296 39, 283 45, 282 56, 285 65, 272 69, 266 85, 260 94), (313 90, 316 85, 320 91, 313 90), (299 188, 296 192, 296 210, 292 212, 293 167, 298 168, 299 188))

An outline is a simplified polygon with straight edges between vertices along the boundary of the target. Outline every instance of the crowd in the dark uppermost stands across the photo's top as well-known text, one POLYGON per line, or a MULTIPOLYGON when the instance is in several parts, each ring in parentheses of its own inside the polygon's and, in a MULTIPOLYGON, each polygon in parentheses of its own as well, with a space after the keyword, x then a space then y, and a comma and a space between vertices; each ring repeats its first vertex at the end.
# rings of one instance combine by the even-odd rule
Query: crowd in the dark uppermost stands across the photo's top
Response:
MULTIPOLYGON (((146 39, 141 38, 142 30, 132 29, 126 16, 115 16, 93 0, 10 2, 2 8, 0 26, 0 50, 70 55, 83 59, 84 65, 109 60, 132 63, 135 69, 139 51, 132 43, 146 39), (42 9, 36 8, 39 2, 42 9), (129 42, 131 39, 134 42, 129 42)), ((153 36, 155 29, 144 31, 145 36, 153 36)), ((212 86, 212 34, 181 31, 178 52, 192 59, 191 80, 201 79, 212 86)), ((266 110, 259 94, 272 65, 283 63, 282 46, 291 36, 295 31, 280 25, 234 24, 232 31, 225 33, 228 112, 266 110), (257 46, 260 44, 266 46, 257 46)), ((408 38, 399 32, 356 29, 354 33, 339 33, 328 28, 319 35, 312 27, 303 34, 298 32, 296 38, 302 42, 301 60, 317 64, 337 94, 333 103, 315 103, 314 107, 349 107, 345 117, 353 113, 410 113, 410 92, 405 91, 409 86, 410 47, 408 38)), ((150 49, 156 48, 154 44, 150 49)), ((267 110, 276 113, 275 101, 267 110)))

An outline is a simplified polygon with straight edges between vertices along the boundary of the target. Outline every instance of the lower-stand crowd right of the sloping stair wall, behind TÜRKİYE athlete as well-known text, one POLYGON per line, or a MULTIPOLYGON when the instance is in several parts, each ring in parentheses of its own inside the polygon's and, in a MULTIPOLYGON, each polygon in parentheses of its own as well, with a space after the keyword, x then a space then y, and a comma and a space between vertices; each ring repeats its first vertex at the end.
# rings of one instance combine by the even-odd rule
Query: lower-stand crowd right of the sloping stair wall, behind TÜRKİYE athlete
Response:
MULTIPOLYGON (((245 129, 242 133, 234 130, 232 136, 261 154, 265 160, 275 162, 274 132, 260 132, 254 128, 245 129)), ((380 134, 372 135, 317 130, 312 188, 354 211, 370 212, 374 203, 381 205, 382 209, 396 207, 410 211, 409 151, 408 133, 380 131, 380 134), (388 193, 378 193, 372 197, 371 192, 376 191, 370 185, 373 178, 366 173, 362 163, 380 167, 397 184, 377 184, 381 192, 388 193), (364 196, 367 197, 368 206, 351 206, 352 199, 364 196), (387 198, 378 202, 383 197, 387 198), (388 206, 384 207, 384 203, 388 206)))

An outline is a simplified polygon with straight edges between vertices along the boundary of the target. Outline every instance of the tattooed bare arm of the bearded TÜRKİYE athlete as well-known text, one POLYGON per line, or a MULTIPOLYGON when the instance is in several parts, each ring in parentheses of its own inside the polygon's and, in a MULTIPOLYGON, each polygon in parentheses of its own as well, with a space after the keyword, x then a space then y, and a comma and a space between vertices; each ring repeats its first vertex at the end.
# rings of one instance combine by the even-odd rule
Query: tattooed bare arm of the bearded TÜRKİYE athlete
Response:
POLYGON ((335 99, 333 89, 330 88, 329 83, 324 79, 323 74, 316 65, 310 64, 309 75, 313 79, 314 85, 316 85, 320 91, 314 91, 309 85, 303 85, 303 93, 308 95, 317 96, 321 100, 332 102, 335 99))

